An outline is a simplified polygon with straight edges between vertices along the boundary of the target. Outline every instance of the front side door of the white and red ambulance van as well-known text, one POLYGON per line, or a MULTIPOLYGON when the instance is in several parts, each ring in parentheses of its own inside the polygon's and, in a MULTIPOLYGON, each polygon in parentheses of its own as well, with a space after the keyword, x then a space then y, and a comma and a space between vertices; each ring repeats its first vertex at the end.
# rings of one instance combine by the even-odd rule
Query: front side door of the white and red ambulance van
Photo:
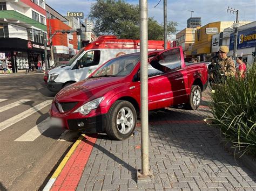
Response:
POLYGON ((88 77, 101 63, 100 58, 102 52, 100 50, 87 51, 79 60, 77 60, 76 66, 76 79, 78 81, 84 80, 88 77))

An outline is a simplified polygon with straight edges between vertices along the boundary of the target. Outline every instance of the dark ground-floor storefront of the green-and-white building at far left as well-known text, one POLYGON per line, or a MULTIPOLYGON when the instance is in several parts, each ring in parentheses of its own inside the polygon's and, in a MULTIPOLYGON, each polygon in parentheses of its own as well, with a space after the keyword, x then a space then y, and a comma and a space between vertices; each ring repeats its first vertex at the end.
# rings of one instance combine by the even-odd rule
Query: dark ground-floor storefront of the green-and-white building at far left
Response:
MULTIPOLYGON (((48 60, 50 47, 47 47, 48 60)), ((13 73, 19 69, 25 69, 25 63, 44 60, 44 45, 20 38, 0 38, 0 52, 4 53, 5 61, 10 65, 13 73)), ((48 62, 49 63, 49 62, 48 62)))

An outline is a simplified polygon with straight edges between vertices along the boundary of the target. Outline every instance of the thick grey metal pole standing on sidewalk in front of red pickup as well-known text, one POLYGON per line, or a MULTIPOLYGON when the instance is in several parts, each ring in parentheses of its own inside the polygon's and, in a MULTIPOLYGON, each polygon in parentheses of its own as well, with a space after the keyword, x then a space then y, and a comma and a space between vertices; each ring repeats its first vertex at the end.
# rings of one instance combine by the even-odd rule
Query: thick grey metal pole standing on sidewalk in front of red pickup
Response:
POLYGON ((140 9, 140 103, 142 118, 142 175, 149 174, 149 114, 147 87, 147 0, 139 1, 140 9))

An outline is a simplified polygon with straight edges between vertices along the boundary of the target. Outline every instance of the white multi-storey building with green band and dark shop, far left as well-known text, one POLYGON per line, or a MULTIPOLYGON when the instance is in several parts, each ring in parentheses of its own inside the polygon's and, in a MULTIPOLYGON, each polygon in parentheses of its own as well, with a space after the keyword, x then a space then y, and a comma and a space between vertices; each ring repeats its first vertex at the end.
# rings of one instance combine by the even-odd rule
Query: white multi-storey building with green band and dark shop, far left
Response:
POLYGON ((0 2, 0 52, 12 72, 44 60, 46 31, 44 0, 0 2))

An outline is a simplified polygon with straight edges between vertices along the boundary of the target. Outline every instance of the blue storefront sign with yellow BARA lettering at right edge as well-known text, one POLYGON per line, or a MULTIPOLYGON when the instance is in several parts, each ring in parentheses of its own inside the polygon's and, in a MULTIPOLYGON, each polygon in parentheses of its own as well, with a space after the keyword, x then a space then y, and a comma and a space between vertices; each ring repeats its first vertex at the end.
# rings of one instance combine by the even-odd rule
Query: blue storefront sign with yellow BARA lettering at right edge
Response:
MULTIPOLYGON (((250 48, 256 45, 256 27, 238 31, 237 49, 250 48)), ((234 34, 230 35, 230 50, 234 49, 234 34)))

